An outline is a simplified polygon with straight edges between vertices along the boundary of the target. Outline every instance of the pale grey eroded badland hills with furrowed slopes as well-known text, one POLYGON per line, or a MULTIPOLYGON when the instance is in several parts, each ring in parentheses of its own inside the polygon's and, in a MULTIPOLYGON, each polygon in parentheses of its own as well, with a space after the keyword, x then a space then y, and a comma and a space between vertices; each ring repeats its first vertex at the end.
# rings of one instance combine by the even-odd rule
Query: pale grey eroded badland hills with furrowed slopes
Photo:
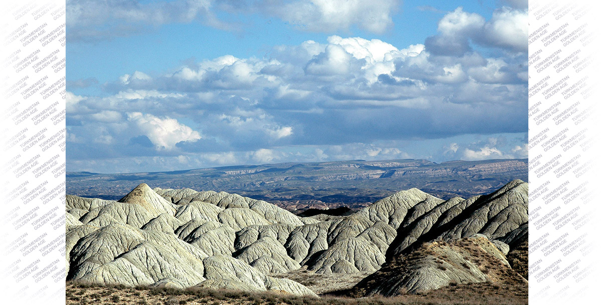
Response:
POLYGON ((350 289, 356 296, 527 285, 516 253, 528 242, 520 180, 447 201, 404 190, 350 216, 299 217, 236 194, 147 184, 119 201, 67 195, 66 209, 67 280, 316 295, 285 274, 371 274, 350 289))

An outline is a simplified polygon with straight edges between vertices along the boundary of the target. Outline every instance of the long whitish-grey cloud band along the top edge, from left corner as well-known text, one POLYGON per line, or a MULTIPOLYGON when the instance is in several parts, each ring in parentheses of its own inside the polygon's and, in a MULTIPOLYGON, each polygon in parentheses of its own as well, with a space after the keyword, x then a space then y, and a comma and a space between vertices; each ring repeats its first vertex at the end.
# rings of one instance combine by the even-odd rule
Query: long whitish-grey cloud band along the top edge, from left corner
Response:
POLYGON ((99 40, 136 35, 169 23, 200 22, 226 31, 243 25, 220 20, 229 13, 259 13, 278 17, 297 29, 314 32, 349 31, 353 26, 382 34, 392 28, 399 0, 223 0, 121 1, 67 0, 70 40, 99 40))

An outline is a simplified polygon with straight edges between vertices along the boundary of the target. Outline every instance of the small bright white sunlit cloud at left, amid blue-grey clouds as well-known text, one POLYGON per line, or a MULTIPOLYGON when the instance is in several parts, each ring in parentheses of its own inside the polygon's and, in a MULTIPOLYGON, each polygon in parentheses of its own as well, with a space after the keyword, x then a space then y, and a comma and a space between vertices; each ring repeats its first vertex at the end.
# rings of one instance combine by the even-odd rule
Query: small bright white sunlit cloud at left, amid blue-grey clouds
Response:
POLYGON ((157 149, 172 149, 178 142, 201 139, 198 131, 180 124, 177 119, 158 118, 141 112, 127 113, 127 119, 133 122, 157 149))

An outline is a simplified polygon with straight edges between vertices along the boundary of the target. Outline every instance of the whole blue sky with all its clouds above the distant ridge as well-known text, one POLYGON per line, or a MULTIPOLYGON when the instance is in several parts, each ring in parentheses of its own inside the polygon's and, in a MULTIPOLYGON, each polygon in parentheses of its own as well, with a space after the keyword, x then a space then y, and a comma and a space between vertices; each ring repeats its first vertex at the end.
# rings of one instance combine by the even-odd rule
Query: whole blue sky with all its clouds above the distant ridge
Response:
POLYGON ((67 0, 67 171, 526 158, 527 3, 67 0))

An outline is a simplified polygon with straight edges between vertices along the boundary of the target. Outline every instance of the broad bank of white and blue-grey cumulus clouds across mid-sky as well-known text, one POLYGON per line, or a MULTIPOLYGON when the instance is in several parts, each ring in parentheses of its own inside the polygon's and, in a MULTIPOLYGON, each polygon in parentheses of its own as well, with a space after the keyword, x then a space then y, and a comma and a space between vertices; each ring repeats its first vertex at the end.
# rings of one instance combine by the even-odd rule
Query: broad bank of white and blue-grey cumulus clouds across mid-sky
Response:
MULTIPOLYGON (((447 32, 463 28, 447 23, 447 32)), ((104 97, 68 92, 67 124, 79 136, 113 124, 106 132, 114 154, 127 143, 138 145, 139 154, 151 154, 151 148, 163 154, 218 153, 519 132, 527 121, 526 81, 517 77, 527 68, 521 63, 475 52, 435 56, 423 44, 400 48, 331 36, 327 43, 275 47, 270 58, 224 55, 162 75, 134 71, 106 86, 104 97), (169 119, 182 117, 186 124, 169 119), (138 134, 126 136, 127 124, 117 125, 120 118, 138 134), (203 137, 195 130, 203 130, 203 137), (131 140, 136 136, 145 138, 131 140)), ((322 151, 333 158, 401 156, 384 148, 322 151)))

